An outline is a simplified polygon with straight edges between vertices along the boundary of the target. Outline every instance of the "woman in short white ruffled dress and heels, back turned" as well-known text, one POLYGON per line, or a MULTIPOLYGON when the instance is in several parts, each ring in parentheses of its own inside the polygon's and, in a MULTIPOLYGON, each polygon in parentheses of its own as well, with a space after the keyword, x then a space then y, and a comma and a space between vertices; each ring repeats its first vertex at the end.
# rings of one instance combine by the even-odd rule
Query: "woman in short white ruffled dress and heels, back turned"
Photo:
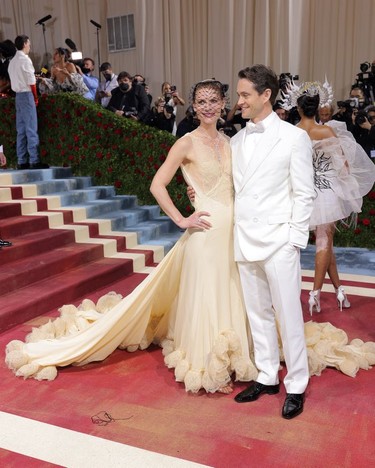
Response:
POLYGON ((313 310, 321 311, 320 292, 326 273, 335 288, 340 310, 350 307, 337 271, 333 237, 336 222, 350 224, 353 215, 355 219, 361 212, 362 197, 375 181, 375 166, 348 131, 336 125, 331 127, 329 122, 326 125, 316 123, 321 85, 304 83, 303 89, 305 92, 297 99, 301 116, 298 126, 306 130, 313 143, 317 195, 310 219, 310 228, 316 237, 314 287, 309 295, 312 314, 313 310))

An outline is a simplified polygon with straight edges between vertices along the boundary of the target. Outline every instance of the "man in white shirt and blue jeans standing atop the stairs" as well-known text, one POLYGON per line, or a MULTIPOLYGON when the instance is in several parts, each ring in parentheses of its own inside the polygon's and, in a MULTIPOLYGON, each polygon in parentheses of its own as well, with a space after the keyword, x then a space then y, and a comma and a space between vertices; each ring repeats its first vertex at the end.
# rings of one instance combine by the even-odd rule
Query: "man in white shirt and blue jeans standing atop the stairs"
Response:
POLYGON ((9 62, 8 73, 16 93, 17 169, 46 169, 49 166, 40 162, 38 154, 38 97, 35 69, 28 56, 30 39, 21 35, 14 43, 17 52, 9 62))

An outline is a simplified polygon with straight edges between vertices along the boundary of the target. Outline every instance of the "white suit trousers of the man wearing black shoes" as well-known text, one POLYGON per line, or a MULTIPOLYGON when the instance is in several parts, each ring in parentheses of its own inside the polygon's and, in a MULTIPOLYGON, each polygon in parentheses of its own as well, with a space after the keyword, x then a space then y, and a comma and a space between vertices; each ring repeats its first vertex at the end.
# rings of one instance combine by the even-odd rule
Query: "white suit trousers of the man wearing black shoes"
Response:
POLYGON ((260 262, 238 262, 245 306, 254 342, 257 382, 275 385, 280 367, 280 327, 287 375, 287 393, 303 393, 309 380, 304 323, 301 308, 299 250, 284 245, 260 262), (276 317, 275 317, 276 312, 276 317))

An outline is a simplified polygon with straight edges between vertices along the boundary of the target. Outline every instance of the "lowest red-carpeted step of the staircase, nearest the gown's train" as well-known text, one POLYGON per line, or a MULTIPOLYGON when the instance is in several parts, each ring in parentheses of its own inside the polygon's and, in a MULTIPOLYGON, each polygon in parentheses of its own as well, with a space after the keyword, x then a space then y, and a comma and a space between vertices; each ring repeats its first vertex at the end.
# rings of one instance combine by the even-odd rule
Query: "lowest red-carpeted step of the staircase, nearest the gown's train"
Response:
POLYGON ((133 274, 133 262, 102 258, 0 297, 0 332, 133 274))

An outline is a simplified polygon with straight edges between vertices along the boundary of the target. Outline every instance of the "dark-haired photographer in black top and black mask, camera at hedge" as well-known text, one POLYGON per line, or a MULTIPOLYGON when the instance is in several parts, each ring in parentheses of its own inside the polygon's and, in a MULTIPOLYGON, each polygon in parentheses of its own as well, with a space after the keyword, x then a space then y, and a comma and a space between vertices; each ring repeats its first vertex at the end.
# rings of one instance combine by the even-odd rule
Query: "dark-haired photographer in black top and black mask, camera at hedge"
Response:
POLYGON ((113 89, 107 109, 117 115, 148 123, 151 116, 150 101, 143 86, 133 86, 133 77, 125 71, 117 77, 118 87, 113 89))

